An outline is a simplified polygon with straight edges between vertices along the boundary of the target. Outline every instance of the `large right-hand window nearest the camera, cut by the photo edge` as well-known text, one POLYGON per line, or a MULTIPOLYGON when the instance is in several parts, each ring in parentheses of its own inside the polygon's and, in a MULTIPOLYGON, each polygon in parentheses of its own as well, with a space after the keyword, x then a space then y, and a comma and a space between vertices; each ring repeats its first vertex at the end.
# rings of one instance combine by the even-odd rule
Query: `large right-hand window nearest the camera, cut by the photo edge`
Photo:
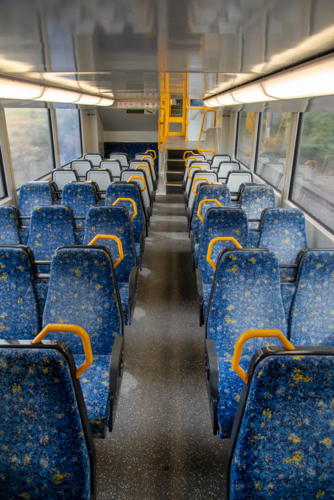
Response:
POLYGON ((334 113, 304 113, 290 199, 334 231, 334 113))

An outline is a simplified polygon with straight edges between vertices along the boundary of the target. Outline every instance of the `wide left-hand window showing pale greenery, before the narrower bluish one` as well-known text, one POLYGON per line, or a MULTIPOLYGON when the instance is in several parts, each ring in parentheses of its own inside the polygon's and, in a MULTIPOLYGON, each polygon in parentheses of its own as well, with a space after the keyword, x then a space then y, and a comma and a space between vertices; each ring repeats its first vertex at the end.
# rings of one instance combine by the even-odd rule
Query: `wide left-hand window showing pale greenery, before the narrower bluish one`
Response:
POLYGON ((54 168, 47 109, 5 109, 16 189, 54 168))

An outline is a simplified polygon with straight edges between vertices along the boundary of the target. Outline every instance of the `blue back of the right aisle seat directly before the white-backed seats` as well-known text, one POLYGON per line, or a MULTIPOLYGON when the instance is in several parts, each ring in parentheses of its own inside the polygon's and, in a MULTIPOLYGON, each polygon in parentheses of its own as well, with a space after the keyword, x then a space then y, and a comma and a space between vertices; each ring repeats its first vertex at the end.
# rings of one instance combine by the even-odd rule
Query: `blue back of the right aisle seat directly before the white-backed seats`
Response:
MULTIPOLYGON (((202 200, 217 200, 222 207, 232 206, 230 190, 223 184, 205 184, 199 186, 197 191, 196 200, 193 205, 193 216, 191 220, 191 229, 194 232, 195 243, 199 244, 202 234, 203 222, 197 216, 198 206, 202 200)), ((203 203, 201 208, 201 216, 205 219, 207 210, 211 207, 217 207, 216 203, 208 202, 203 203)))

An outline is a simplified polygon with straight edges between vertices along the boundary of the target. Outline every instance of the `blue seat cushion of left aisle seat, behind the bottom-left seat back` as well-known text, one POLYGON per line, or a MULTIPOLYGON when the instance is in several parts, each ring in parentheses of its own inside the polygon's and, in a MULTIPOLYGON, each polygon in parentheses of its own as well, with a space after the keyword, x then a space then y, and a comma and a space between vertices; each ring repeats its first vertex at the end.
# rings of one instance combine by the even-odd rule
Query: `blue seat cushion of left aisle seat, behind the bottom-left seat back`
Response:
MULTIPOLYGON (((85 361, 83 354, 74 354, 76 367, 85 361)), ((107 434, 109 402, 109 367, 110 356, 94 356, 93 363, 80 377, 80 384, 85 400, 88 420, 93 438, 105 438, 107 434)))

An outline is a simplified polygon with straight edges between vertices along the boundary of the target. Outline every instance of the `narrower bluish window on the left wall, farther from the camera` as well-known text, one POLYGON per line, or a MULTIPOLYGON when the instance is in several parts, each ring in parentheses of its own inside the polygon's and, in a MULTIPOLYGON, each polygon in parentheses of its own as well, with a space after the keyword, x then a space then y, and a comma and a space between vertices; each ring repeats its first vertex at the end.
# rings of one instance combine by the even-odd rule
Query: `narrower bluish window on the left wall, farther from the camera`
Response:
POLYGON ((56 109, 61 165, 82 155, 80 118, 77 109, 56 109))

